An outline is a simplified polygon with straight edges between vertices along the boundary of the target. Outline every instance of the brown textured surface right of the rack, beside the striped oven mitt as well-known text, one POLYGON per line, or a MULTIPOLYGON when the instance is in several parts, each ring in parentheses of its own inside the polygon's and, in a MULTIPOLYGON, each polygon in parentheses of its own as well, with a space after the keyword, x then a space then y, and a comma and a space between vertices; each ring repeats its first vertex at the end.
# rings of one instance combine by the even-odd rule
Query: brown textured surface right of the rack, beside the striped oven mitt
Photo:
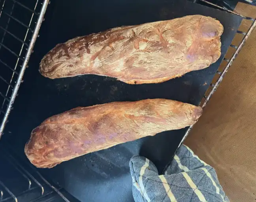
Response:
MULTIPOLYGON (((256 17, 253 6, 239 3, 236 11, 256 17)), ((247 31, 250 24, 243 20, 239 30, 247 31)), ((241 39, 237 35, 233 44, 241 39)), ((233 51, 230 49, 226 58, 233 51)), ((230 201, 256 202, 256 30, 184 144, 215 167, 230 201)))

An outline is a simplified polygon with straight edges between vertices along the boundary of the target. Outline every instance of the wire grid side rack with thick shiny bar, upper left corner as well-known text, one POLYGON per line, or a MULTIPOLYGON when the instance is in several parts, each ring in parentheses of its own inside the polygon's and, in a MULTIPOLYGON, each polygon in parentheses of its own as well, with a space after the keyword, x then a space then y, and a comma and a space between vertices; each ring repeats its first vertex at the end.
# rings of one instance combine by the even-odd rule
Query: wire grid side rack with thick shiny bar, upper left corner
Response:
POLYGON ((17 96, 49 0, 26 2, 28 5, 16 0, 0 1, 0 137, 17 96))

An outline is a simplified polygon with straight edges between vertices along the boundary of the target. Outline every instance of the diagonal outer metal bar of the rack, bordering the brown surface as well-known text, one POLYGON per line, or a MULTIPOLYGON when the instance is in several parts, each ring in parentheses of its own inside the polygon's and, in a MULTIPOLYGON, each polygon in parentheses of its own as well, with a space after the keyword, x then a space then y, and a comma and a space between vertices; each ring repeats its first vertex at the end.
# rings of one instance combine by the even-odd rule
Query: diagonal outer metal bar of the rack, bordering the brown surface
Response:
MULTIPOLYGON (((239 46, 237 47, 237 49, 235 50, 235 52, 233 53, 232 57, 230 58, 230 60, 226 60, 228 62, 228 64, 226 65, 226 67, 224 68, 224 70, 222 71, 222 73, 220 74, 220 77, 218 78, 217 82, 215 83, 215 85, 213 86, 213 89, 210 91, 209 95, 207 97, 205 97, 205 101, 202 104, 202 108, 205 108, 205 106, 207 105, 207 103, 209 102, 209 99, 211 98, 211 96, 215 93, 215 91, 217 90, 218 86, 220 85, 220 82, 222 82, 223 77, 226 75, 226 73, 228 72, 230 66, 232 65, 232 63, 234 62, 235 58, 237 57, 237 54, 240 52, 240 50, 242 49, 242 47, 245 45, 245 42, 247 41, 248 37, 250 36, 250 34, 252 33, 252 31, 254 30, 254 28, 256 27, 256 21, 254 21, 252 23, 252 25, 250 26, 250 28, 248 29, 247 34, 243 37, 243 40, 241 41, 241 43, 239 44, 239 46)), ((225 58, 224 58, 225 59, 225 58)), ((190 133, 191 129, 194 127, 194 125, 191 125, 183 139, 181 140, 179 147, 181 146, 181 144, 183 143, 183 141, 185 140, 185 138, 188 136, 188 134, 190 133)))

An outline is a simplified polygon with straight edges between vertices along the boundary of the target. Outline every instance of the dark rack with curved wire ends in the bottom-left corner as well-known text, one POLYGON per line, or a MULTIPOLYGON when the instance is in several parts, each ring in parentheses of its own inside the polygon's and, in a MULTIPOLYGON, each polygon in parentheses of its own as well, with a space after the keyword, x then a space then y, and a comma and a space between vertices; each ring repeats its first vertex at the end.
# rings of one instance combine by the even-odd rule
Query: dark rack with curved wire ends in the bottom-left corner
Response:
POLYGON ((21 165, 11 153, 9 146, 0 147, 0 162, 4 165, 0 167, 0 202, 44 201, 44 197, 54 193, 70 202, 61 187, 53 186, 30 164, 21 165))

